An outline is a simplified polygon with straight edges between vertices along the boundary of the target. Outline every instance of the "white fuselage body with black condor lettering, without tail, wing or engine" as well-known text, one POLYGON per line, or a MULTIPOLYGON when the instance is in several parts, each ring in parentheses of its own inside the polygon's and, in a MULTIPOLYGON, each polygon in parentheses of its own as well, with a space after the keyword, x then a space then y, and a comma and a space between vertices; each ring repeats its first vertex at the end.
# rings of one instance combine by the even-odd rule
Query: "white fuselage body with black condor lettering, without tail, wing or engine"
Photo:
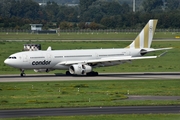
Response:
MULTIPOLYGON (((68 65, 59 64, 65 61, 94 60, 101 58, 132 56, 139 57, 141 49, 87 49, 87 50, 50 50, 50 51, 25 51, 10 55, 5 60, 9 66, 20 69, 69 69, 68 65)), ((94 65, 111 66, 121 62, 107 62, 94 65)))

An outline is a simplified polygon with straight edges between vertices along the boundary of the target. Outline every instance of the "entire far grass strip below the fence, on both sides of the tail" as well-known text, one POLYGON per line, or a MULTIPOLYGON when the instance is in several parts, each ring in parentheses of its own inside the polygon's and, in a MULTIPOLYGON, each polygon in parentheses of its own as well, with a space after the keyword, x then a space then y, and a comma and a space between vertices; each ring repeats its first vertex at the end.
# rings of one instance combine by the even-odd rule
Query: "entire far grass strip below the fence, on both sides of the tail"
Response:
MULTIPOLYGON (((31 34, 1 32, 0 40, 133 40, 139 32, 62 32, 60 34, 31 34), (27 37, 28 36, 28 37, 27 37)), ((155 39, 174 39, 179 32, 156 32, 155 39)))

